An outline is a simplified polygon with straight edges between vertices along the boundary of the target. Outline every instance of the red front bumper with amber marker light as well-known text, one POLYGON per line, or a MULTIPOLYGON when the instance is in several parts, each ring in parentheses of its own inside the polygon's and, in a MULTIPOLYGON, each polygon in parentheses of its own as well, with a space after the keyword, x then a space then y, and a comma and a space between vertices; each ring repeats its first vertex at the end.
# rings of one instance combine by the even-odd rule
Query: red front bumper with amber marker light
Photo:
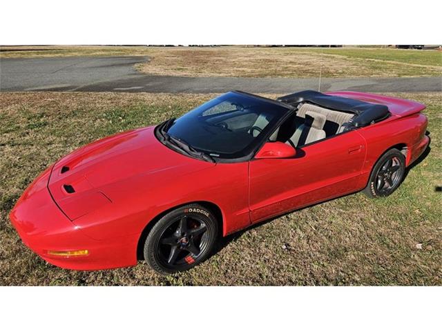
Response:
POLYGON ((41 174, 17 201, 10 220, 21 240, 42 259, 61 268, 100 270, 137 263, 137 236, 92 239, 59 210, 50 196, 50 171, 41 174), (48 251, 88 250, 88 255, 60 257, 48 251))

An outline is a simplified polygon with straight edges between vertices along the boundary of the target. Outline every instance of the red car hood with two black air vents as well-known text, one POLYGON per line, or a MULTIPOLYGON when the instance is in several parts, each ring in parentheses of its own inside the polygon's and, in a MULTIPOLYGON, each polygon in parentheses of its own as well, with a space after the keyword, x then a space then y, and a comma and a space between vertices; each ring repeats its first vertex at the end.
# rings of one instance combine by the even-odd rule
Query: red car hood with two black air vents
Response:
POLYGON ((114 203, 116 198, 107 189, 129 177, 168 176, 171 170, 174 175, 186 174, 215 165, 170 150, 156 139, 153 130, 131 130, 95 141, 55 163, 48 189, 69 219, 114 203))

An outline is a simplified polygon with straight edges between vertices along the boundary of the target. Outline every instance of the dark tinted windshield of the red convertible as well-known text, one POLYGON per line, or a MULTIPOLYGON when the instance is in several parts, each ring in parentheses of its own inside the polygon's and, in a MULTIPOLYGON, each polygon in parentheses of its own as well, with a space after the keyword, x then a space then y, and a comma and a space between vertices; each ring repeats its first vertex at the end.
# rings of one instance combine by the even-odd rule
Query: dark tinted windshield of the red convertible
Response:
POLYGON ((239 92, 229 92, 169 123, 166 133, 210 157, 244 157, 287 108, 239 92))

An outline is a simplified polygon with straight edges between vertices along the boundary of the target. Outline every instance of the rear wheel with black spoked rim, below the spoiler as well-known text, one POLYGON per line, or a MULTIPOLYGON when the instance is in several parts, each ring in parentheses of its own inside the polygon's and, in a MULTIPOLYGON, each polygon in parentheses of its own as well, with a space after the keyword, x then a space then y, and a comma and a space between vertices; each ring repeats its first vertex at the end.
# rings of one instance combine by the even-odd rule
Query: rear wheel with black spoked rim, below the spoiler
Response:
POLYGON ((403 181, 405 157, 392 148, 378 159, 370 175, 364 193, 370 198, 388 197, 403 181))

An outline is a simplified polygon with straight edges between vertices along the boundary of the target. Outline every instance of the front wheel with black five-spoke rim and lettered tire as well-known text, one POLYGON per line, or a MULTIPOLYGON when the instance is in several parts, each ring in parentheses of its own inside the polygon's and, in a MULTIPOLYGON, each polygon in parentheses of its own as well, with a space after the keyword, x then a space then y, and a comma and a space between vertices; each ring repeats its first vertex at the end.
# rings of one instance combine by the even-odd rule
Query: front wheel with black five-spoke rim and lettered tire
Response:
POLYGON ((162 274, 189 270, 209 257, 217 239, 213 212, 197 203, 184 205, 153 225, 144 243, 144 259, 162 274))

